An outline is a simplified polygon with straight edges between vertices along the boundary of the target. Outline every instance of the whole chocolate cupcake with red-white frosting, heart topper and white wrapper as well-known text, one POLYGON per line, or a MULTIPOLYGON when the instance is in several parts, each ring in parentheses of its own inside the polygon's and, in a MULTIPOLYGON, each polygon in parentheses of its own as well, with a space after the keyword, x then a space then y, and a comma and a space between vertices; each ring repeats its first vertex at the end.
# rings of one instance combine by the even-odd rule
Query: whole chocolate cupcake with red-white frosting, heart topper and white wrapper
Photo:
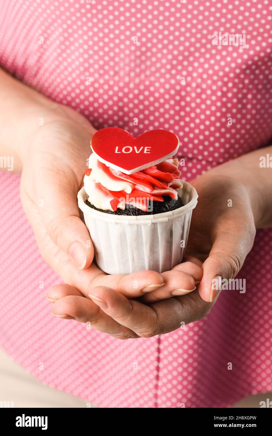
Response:
POLYGON ((97 266, 109 274, 172 269, 182 261, 197 203, 196 190, 179 178, 177 136, 159 129, 134 139, 107 127, 91 147, 78 204, 97 266))

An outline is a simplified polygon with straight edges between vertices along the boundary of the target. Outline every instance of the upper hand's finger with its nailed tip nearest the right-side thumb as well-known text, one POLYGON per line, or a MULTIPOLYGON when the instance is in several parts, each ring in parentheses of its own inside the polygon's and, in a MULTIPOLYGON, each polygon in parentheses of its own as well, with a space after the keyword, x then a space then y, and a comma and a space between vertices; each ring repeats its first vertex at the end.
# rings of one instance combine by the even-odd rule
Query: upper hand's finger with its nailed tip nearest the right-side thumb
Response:
POLYGON ((162 272, 165 284, 158 290, 141 298, 144 303, 155 303, 171 296, 185 295, 196 289, 195 279, 179 269, 162 272))

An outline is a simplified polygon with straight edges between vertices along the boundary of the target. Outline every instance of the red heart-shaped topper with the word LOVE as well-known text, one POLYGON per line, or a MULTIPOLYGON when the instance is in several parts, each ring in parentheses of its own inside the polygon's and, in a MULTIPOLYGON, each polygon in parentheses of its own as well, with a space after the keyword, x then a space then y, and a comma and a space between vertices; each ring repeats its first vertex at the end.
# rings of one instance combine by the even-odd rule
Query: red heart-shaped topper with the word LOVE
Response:
POLYGON ((179 138, 161 129, 134 138, 124 129, 105 127, 93 135, 91 147, 97 159, 107 167, 133 174, 174 156, 179 138))

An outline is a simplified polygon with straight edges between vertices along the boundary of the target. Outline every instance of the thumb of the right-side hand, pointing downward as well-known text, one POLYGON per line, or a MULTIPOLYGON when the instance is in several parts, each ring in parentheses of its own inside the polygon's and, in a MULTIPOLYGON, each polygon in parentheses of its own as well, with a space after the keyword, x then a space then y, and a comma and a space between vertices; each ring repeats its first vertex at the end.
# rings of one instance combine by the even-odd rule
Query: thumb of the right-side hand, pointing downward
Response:
POLYGON ((255 231, 244 234, 222 233, 213 243, 209 257, 202 265, 203 278, 199 293, 204 301, 214 301, 220 291, 222 280, 231 280, 240 271, 244 259, 251 250, 255 231), (254 234, 253 234, 254 233, 254 234))

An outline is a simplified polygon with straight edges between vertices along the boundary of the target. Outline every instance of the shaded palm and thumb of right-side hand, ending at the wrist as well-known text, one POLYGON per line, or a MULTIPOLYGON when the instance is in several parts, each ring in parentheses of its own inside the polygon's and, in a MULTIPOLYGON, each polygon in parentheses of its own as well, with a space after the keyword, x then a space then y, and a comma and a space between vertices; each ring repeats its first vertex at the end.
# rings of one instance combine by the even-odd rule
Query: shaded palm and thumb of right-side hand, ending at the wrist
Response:
POLYGON ((229 162, 191 182, 199 198, 186 255, 203 262, 199 293, 205 301, 216 298, 222 281, 234 279, 254 243, 252 205, 247 187, 235 178, 236 170, 229 162))

